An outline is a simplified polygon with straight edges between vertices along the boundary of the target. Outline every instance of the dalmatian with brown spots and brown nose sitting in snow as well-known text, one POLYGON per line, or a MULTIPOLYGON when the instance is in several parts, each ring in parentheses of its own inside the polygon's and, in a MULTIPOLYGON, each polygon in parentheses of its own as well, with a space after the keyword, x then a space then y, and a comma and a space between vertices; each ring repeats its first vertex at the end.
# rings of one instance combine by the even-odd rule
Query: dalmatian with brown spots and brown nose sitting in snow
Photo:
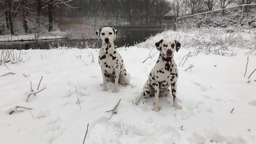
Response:
POLYGON ((159 111, 159 97, 170 96, 172 92, 173 103, 175 109, 179 109, 177 103, 177 78, 178 69, 173 59, 175 50, 178 52, 180 43, 174 39, 161 39, 155 43, 160 54, 158 60, 149 74, 149 78, 144 85, 141 95, 137 98, 138 105, 143 98, 155 96, 154 111, 159 111), (171 88, 171 91, 170 91, 171 88))

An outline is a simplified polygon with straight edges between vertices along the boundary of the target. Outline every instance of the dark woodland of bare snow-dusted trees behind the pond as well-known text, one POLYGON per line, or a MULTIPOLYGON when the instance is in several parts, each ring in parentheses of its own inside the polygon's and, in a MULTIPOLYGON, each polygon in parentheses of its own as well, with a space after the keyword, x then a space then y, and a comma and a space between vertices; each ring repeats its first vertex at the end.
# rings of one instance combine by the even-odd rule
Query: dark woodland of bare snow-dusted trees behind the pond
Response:
POLYGON ((176 17, 256 0, 0 0, 0 35, 67 32, 89 39, 101 26, 166 26, 176 17), (165 14, 169 15, 166 21, 165 14))

